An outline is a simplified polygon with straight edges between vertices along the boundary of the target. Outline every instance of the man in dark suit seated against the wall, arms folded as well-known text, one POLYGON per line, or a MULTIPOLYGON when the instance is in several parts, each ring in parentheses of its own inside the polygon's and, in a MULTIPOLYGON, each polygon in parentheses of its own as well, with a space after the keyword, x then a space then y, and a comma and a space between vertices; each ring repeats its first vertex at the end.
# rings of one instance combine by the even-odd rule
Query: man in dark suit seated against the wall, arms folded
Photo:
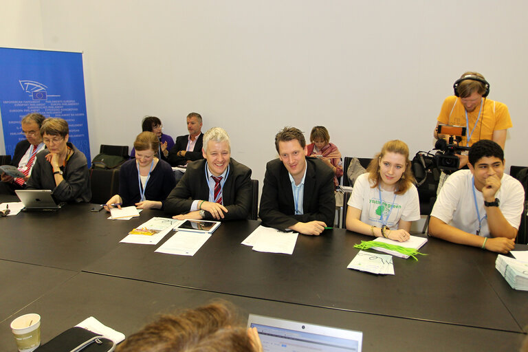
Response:
POLYGON ((201 115, 190 113, 187 115, 188 135, 176 137, 176 143, 168 152, 167 160, 170 166, 186 165, 189 162, 202 159, 203 134, 201 133, 201 115))

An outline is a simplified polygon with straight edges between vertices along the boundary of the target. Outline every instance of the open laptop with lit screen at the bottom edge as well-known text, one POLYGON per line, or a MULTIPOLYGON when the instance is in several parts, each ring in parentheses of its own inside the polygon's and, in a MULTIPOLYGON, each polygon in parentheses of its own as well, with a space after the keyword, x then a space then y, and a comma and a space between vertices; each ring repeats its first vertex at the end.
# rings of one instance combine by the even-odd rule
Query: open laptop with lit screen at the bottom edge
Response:
POLYGON ((248 327, 259 331, 263 350, 266 352, 361 352, 363 333, 256 316, 250 314, 248 327))

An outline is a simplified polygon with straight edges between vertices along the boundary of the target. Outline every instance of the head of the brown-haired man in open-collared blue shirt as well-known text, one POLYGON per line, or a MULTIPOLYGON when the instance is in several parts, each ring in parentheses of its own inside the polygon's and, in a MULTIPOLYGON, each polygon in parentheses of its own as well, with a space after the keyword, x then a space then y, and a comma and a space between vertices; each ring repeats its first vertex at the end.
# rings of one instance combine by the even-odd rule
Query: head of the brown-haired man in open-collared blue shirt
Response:
POLYGON ((303 177, 306 168, 305 135, 295 127, 285 127, 275 135, 278 157, 292 177, 303 177))

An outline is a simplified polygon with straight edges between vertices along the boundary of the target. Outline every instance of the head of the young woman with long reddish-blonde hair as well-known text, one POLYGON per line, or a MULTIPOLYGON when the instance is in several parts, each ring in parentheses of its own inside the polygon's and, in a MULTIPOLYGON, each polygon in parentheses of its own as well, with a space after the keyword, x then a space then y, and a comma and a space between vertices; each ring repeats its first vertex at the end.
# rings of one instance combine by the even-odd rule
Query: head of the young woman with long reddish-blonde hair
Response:
POLYGON ((382 151, 372 159, 367 171, 373 188, 380 186, 397 195, 403 195, 415 179, 410 169, 409 148, 401 140, 386 142, 382 151))

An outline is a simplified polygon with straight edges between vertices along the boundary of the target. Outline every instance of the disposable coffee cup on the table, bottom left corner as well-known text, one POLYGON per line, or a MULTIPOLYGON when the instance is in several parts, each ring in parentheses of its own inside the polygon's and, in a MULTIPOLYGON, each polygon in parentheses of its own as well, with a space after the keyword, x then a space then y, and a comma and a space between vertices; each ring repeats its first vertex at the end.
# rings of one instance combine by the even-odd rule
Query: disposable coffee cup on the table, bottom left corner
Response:
POLYGON ((14 340, 20 352, 32 352, 41 344, 41 316, 24 314, 11 322, 14 340))

